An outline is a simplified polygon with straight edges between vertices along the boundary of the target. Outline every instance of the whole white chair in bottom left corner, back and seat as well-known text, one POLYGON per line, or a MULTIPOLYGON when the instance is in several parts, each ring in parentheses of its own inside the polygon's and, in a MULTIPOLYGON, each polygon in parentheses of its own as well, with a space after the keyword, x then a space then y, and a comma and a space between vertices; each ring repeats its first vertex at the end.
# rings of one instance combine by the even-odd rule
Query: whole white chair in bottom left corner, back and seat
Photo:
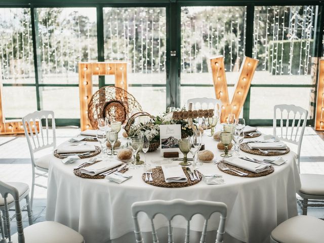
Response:
MULTIPOLYGON (((84 238, 78 232, 66 227, 57 222, 44 221, 40 223, 33 224, 26 227, 22 226, 22 215, 19 204, 19 191, 14 186, 6 184, 0 181, 0 195, 4 198, 5 202, 5 225, 7 229, 10 229, 10 219, 9 219, 9 201, 10 197, 14 200, 16 223, 17 223, 17 233, 10 235, 8 240, 9 243, 83 243, 84 238)), ((2 221, 0 222, 2 224, 2 221)), ((1 236, 2 237, 2 236, 1 236)), ((2 243, 6 243, 6 239, 1 239, 2 243)))

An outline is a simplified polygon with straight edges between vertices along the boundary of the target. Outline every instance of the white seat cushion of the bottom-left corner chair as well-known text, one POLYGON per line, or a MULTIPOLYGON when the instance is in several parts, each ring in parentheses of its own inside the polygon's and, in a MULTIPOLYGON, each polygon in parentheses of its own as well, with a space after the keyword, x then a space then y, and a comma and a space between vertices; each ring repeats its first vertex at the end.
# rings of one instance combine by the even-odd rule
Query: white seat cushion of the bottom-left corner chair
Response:
MULTIPOLYGON (((24 228, 26 243, 83 243, 84 238, 69 227, 53 222, 44 221, 24 228)), ((18 242, 18 233, 12 236, 13 242, 18 242)))

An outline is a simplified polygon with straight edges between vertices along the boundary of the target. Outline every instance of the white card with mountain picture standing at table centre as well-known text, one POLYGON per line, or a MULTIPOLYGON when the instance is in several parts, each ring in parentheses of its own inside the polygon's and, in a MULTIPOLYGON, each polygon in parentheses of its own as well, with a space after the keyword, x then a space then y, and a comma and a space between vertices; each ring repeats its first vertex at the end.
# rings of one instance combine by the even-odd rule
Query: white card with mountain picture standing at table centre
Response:
POLYGON ((181 125, 160 125, 161 154, 164 152, 180 151, 181 125))

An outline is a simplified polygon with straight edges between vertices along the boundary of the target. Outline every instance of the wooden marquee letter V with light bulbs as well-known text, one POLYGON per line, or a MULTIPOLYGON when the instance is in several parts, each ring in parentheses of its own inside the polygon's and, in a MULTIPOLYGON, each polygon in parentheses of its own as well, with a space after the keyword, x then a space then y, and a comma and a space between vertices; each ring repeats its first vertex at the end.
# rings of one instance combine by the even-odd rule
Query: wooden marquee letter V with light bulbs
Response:
POLYGON ((239 113, 247 98, 251 81, 257 68, 259 60, 250 57, 244 57, 243 63, 240 68, 240 75, 238 82, 235 85, 235 92, 232 102, 229 103, 227 82, 224 68, 224 57, 217 56, 211 58, 211 68, 213 74, 213 82, 215 88, 216 99, 222 102, 221 123, 227 121, 230 113, 239 116, 239 113))

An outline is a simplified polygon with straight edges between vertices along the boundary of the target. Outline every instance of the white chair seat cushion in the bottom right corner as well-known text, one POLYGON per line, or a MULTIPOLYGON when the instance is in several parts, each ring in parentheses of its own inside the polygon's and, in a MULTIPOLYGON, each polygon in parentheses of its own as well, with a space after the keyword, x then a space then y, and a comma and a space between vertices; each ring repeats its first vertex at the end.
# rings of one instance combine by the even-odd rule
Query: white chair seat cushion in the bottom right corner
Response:
POLYGON ((324 239, 324 221, 300 215, 279 224, 271 237, 279 243, 319 243, 324 239))

